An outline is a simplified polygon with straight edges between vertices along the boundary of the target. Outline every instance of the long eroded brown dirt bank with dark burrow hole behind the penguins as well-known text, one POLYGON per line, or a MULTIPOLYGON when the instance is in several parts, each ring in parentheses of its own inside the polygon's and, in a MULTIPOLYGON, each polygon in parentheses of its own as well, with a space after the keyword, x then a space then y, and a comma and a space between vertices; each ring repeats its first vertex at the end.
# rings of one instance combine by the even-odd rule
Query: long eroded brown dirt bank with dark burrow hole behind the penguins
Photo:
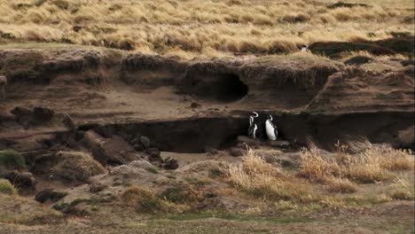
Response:
POLYGON ((414 68, 398 61, 345 66, 308 54, 182 61, 96 50, 0 55, 8 77, 3 139, 16 130, 59 132, 68 117, 74 127, 143 132, 164 150, 200 152, 244 135, 249 112, 259 111, 273 113, 282 136, 301 144, 367 136, 398 147, 399 131, 413 126, 414 68), (51 110, 53 121, 29 117, 24 108, 34 106, 51 110))

